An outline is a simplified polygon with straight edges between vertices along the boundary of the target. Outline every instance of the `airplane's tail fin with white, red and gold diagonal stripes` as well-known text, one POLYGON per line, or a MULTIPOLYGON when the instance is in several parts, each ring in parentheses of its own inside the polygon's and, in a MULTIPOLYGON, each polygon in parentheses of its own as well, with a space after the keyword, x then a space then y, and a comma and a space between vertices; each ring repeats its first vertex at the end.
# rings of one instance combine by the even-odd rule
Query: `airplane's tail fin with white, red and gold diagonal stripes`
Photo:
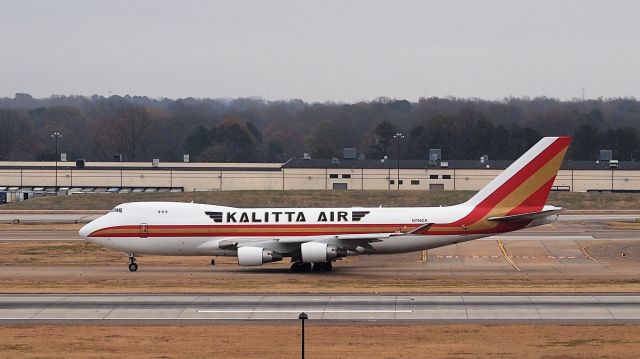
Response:
POLYGON ((570 137, 544 137, 464 205, 481 218, 542 210, 570 143, 570 137))

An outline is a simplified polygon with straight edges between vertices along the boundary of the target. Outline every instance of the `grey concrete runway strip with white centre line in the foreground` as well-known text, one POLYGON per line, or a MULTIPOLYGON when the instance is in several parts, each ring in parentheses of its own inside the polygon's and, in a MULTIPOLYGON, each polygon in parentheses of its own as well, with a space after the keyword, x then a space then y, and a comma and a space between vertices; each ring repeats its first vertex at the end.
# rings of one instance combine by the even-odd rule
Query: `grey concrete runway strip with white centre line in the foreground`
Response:
POLYGON ((640 323, 639 295, 2 295, 0 323, 640 323))

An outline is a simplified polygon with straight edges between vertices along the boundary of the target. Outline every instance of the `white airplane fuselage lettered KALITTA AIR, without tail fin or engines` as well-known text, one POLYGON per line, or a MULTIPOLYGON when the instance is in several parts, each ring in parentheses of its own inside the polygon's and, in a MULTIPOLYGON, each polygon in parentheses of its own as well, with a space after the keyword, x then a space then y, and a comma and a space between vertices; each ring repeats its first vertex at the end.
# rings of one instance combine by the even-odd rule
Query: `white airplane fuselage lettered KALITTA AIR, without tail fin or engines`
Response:
MULTIPOLYGON (((177 202, 139 202, 117 206, 82 228, 87 240, 117 250, 158 255, 229 255, 235 239, 287 255, 307 241, 331 242, 347 236, 376 238, 358 247, 367 254, 412 252, 504 232, 467 231, 456 225, 440 232, 411 234, 425 224, 451 224, 472 207, 233 208, 177 202), (397 235, 394 235, 397 234, 397 235)), ((536 220, 518 225, 547 223, 536 220)), ((420 231, 418 231, 420 232, 420 231)))

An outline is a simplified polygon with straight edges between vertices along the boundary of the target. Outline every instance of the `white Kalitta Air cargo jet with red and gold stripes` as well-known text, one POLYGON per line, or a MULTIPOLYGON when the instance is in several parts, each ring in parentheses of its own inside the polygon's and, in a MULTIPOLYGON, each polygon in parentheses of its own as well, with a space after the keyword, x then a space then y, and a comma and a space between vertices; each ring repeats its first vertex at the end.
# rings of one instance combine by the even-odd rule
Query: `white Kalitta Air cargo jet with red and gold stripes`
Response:
MULTIPOLYGON (((137 254, 235 256, 240 266, 291 258, 292 272, 328 272, 346 256, 421 251, 551 223, 546 205, 571 142, 544 137, 468 201, 446 207, 235 208, 132 202, 80 229, 86 240, 137 254)), ((212 260, 212 264, 214 261, 212 260)))

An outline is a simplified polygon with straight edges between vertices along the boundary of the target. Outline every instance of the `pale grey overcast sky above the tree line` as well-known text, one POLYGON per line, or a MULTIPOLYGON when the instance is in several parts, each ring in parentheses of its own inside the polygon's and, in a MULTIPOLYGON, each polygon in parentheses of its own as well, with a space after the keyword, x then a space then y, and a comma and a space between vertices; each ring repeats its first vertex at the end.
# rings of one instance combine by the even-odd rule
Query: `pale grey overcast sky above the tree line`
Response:
POLYGON ((0 0, 0 97, 640 97, 640 1, 0 0))

